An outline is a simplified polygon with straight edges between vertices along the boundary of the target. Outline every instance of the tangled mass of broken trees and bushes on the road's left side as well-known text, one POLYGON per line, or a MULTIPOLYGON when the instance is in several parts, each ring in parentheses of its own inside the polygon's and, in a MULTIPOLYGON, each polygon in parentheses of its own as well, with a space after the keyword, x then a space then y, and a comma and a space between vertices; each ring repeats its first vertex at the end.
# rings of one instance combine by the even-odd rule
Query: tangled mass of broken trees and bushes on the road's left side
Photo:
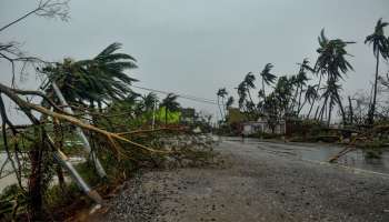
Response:
MULTIPOLYGON (((39 1, 0 32, 32 16, 67 20, 68 13, 68 1, 39 1)), ((209 118, 193 111, 182 122, 178 95, 133 91, 137 60, 120 43, 90 59, 49 62, 18 42, 0 42, 0 60, 11 70, 11 84, 0 83, 0 181, 14 178, 0 194, 0 221, 63 220, 102 204, 139 169, 213 161, 209 118), (39 80, 37 90, 18 88, 27 72, 39 80), (16 112, 27 123, 13 121, 16 112)))

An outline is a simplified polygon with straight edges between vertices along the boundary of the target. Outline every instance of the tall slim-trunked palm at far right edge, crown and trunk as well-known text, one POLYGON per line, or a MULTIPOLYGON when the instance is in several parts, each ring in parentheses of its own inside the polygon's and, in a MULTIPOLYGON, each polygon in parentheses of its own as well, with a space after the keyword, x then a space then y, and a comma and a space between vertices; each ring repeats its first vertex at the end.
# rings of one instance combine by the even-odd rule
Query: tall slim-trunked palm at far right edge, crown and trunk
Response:
POLYGON ((372 103, 369 110, 369 123, 372 124, 375 120, 376 103, 377 103, 377 80, 378 80, 378 67, 379 58, 388 60, 389 58, 389 38, 385 37, 383 28, 387 27, 388 22, 382 22, 382 19, 379 19, 376 23, 375 32, 366 37, 365 43, 372 44, 372 52, 376 57, 376 78, 375 78, 375 89, 372 95, 372 103))

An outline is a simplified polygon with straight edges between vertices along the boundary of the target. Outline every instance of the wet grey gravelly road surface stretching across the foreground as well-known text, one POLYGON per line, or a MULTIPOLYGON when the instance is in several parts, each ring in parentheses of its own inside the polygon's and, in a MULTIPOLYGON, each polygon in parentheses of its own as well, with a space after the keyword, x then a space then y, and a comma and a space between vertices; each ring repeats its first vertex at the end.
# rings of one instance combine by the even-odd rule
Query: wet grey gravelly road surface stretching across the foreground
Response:
MULTIPOLYGON (((262 144, 262 147, 266 144, 262 144)), ((98 221, 389 221, 389 178, 223 141, 222 167, 127 182, 98 221)))

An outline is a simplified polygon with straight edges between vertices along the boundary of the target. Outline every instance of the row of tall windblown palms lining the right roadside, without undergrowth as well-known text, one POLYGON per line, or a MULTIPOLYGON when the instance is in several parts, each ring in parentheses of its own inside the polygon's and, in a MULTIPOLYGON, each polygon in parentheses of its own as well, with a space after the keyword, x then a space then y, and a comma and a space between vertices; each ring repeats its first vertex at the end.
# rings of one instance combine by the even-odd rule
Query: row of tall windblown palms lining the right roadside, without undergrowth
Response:
MULTIPOLYGON (((257 73, 247 73, 236 88, 239 110, 248 120, 266 117, 269 123, 285 119, 300 119, 326 122, 329 125, 335 110, 338 110, 343 125, 355 123, 373 125, 378 120, 388 120, 389 115, 377 111, 378 89, 380 85, 388 87, 389 82, 388 75, 379 73, 380 60, 388 61, 389 58, 389 37, 385 34, 388 22, 379 19, 373 32, 365 40, 365 43, 372 48, 376 59, 373 84, 368 98, 348 95, 348 102, 345 102, 341 93, 342 82, 346 81, 347 73, 353 70, 349 61, 352 56, 348 53, 347 47, 356 42, 329 39, 322 29, 318 37, 319 46, 316 50, 318 56, 315 63, 303 59, 298 63, 296 74, 277 75, 272 72, 272 63, 267 63, 257 73), (257 78, 259 90, 257 90, 257 78), (361 108, 362 105, 367 108, 361 108)), ((229 97, 226 88, 217 91, 217 98, 221 122, 226 122, 228 110, 235 99, 229 97)))

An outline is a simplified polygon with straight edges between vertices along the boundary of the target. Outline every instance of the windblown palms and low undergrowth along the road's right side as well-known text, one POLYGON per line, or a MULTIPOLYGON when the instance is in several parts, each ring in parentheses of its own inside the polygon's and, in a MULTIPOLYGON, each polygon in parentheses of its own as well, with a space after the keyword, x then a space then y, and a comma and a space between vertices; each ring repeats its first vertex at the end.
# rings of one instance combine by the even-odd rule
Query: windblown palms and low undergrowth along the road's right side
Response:
POLYGON ((352 74, 352 58, 358 57, 350 54, 348 47, 361 42, 329 38, 322 29, 316 61, 302 59, 296 73, 275 73, 275 65, 267 63, 243 75, 233 89, 237 98, 229 95, 226 88, 217 91, 219 133, 243 135, 245 123, 260 120, 269 130, 259 129, 246 137, 339 142, 366 149, 368 157, 379 158, 380 149, 389 145, 389 72, 379 71, 380 61, 389 58, 387 27, 388 22, 379 19, 362 42, 372 49, 376 60, 371 68, 375 75, 366 92, 345 94, 342 87, 352 74), (281 133, 276 132, 278 125, 285 128, 281 133))

